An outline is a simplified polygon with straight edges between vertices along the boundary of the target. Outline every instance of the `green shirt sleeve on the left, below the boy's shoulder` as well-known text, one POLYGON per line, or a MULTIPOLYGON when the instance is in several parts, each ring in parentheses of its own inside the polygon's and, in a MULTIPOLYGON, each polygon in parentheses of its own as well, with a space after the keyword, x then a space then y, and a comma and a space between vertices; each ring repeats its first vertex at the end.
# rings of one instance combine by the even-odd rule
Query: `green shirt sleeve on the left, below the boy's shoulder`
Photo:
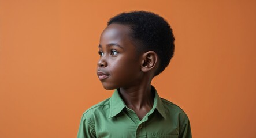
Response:
POLYGON ((81 118, 79 130, 77 133, 77 138, 85 138, 85 137, 86 138, 96 137, 94 124, 92 124, 91 120, 87 117, 86 113, 84 113, 81 118))

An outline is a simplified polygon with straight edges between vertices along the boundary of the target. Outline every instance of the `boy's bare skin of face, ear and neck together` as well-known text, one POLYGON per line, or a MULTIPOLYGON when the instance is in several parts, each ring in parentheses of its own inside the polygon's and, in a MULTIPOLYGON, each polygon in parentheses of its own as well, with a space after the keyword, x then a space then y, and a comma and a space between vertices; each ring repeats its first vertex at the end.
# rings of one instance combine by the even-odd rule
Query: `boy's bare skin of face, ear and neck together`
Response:
POLYGON ((152 109, 151 81, 159 66, 154 51, 140 52, 129 36, 128 25, 110 24, 101 34, 97 75, 107 90, 118 89, 140 120, 152 109))

